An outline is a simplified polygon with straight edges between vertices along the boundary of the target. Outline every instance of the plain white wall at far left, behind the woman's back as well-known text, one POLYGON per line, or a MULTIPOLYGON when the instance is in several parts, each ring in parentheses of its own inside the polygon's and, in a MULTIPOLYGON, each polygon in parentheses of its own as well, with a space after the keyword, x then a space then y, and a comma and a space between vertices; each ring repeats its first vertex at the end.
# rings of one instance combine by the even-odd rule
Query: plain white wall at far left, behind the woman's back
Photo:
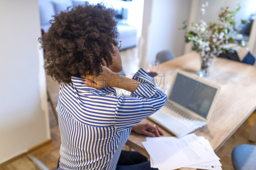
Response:
POLYGON ((0 1, 0 163, 50 138, 36 0, 0 1))

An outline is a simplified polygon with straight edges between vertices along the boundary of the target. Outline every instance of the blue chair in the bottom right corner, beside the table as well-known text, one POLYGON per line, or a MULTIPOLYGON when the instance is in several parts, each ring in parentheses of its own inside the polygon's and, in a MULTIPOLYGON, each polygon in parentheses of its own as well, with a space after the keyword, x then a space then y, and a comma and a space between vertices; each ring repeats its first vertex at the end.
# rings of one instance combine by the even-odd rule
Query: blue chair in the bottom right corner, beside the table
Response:
POLYGON ((256 146, 236 146, 232 152, 232 163, 235 170, 256 170, 256 146))

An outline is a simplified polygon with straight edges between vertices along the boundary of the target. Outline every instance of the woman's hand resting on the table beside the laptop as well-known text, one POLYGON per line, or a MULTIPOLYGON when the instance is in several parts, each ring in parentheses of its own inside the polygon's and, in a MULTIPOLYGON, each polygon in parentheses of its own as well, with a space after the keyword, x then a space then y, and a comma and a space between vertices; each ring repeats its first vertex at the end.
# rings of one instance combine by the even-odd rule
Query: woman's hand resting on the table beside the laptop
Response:
POLYGON ((152 132, 149 132, 148 130, 153 130, 156 132, 156 136, 164 135, 164 131, 159 129, 157 126, 154 126, 154 124, 147 122, 147 123, 138 123, 132 126, 132 131, 135 131, 138 134, 143 134, 151 137, 155 137, 155 134, 152 132))

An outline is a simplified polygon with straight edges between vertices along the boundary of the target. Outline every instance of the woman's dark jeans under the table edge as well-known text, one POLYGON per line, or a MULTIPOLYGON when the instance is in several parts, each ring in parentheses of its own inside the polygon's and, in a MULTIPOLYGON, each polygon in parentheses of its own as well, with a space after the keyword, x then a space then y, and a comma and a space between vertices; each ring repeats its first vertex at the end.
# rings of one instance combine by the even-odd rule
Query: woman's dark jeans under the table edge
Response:
POLYGON ((135 151, 122 151, 118 159, 116 170, 158 170, 151 168, 147 157, 135 151))

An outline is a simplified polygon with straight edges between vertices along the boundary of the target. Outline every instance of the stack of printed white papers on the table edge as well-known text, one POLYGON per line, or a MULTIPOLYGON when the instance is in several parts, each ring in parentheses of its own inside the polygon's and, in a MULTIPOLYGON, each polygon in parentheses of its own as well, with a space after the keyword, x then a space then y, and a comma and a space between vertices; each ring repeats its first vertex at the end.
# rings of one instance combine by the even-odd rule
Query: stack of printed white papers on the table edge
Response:
POLYGON ((150 165, 159 170, 174 170, 182 167, 222 170, 220 158, 204 137, 194 133, 181 138, 148 137, 142 145, 150 155, 150 165))

